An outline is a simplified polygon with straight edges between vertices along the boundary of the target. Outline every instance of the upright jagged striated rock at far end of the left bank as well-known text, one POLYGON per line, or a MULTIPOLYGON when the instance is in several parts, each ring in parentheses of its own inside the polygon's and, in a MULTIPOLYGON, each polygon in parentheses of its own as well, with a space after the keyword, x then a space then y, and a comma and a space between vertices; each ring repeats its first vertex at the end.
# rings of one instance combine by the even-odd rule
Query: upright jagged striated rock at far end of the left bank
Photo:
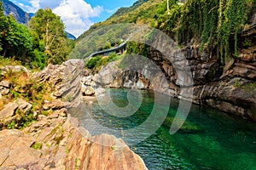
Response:
POLYGON ((53 86, 53 96, 70 102, 69 106, 80 102, 81 75, 84 62, 80 59, 67 60, 62 65, 48 65, 43 71, 33 75, 39 82, 49 82, 53 86))

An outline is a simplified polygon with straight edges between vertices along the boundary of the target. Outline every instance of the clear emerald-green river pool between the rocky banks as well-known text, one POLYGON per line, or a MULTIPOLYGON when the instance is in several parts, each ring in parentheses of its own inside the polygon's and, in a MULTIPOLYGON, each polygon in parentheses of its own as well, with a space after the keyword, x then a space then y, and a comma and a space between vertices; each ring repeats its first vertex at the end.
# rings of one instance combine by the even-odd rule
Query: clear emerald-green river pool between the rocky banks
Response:
MULTIPOLYGON (((127 89, 111 89, 111 97, 116 105, 127 105, 127 89)), ((80 126, 90 133, 112 133, 122 138, 120 133, 111 129, 128 129, 144 122, 154 105, 154 93, 142 91, 143 104, 132 116, 119 118, 109 116, 95 102, 90 107, 83 105, 80 111, 72 111, 79 118, 80 126), (84 109, 81 109, 84 108, 84 109), (88 109, 90 108, 90 109, 88 109), (97 123, 90 123, 93 118, 97 123), (101 126, 110 130, 105 132, 101 126)), ((136 98, 137 96, 134 96, 136 98)), ((172 99, 168 116, 174 116, 178 100, 172 99)), ((166 107, 163 105, 163 107, 166 107)), ((161 126, 148 139, 130 145, 143 158, 148 169, 232 169, 256 170, 256 123, 207 107, 192 105, 187 122, 201 129, 195 132, 178 131, 170 135, 169 128, 161 126)), ((152 122, 154 123, 154 122, 152 122)), ((127 139, 129 143, 137 138, 127 139)))

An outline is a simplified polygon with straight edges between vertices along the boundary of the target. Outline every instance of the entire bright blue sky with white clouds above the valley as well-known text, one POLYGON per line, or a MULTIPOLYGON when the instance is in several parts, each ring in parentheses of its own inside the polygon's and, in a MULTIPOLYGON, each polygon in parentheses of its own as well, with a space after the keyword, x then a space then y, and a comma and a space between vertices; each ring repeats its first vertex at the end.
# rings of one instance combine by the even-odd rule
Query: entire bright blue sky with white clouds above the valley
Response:
POLYGON ((61 16, 66 30, 79 37, 96 22, 108 19, 120 7, 129 7, 137 0, 10 0, 26 12, 52 8, 61 16))

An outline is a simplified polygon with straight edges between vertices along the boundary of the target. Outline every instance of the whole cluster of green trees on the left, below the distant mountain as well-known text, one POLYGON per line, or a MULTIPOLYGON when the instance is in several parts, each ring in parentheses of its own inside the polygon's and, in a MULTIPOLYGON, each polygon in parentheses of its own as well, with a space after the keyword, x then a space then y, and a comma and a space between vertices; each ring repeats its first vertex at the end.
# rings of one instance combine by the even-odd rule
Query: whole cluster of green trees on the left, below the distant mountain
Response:
POLYGON ((23 65, 43 69, 61 64, 73 48, 61 18, 51 9, 39 9, 29 26, 19 24, 11 14, 3 14, 0 2, 0 55, 20 60, 23 65))

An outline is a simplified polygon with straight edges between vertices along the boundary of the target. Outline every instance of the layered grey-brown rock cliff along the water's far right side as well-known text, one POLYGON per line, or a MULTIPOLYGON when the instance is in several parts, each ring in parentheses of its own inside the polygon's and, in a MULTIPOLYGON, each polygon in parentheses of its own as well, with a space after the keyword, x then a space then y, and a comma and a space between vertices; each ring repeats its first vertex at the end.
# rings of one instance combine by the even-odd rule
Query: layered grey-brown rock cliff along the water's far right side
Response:
MULTIPOLYGON (((254 35, 254 33, 252 33, 254 35)), ((251 35, 252 36, 252 35, 251 35)), ((173 62, 154 48, 147 56, 160 68, 164 77, 155 76, 152 66, 143 64, 142 72, 128 71, 121 62, 111 62, 96 74, 84 74, 85 86, 107 88, 160 89, 160 92, 177 98, 192 99, 195 104, 208 105, 230 115, 241 116, 256 122, 256 48, 241 49, 237 59, 230 59, 222 66, 218 57, 210 49, 200 50, 200 46, 187 46, 173 53, 173 62), (184 56, 185 65, 178 56, 184 56), (193 77, 192 87, 182 87, 177 71, 189 65, 193 77), (173 67, 176 66, 176 69, 173 67), (147 77, 147 78, 146 78, 147 77), (151 80, 148 80, 148 77, 151 80), (166 85, 164 80, 167 80, 166 85), (156 85, 157 87, 153 86, 156 85), (193 90, 192 96, 183 92, 193 90)), ((123 59, 125 60, 125 59, 123 59)), ((132 60, 132 59, 130 59, 132 60)), ((131 68, 137 65, 129 61, 131 68)))

